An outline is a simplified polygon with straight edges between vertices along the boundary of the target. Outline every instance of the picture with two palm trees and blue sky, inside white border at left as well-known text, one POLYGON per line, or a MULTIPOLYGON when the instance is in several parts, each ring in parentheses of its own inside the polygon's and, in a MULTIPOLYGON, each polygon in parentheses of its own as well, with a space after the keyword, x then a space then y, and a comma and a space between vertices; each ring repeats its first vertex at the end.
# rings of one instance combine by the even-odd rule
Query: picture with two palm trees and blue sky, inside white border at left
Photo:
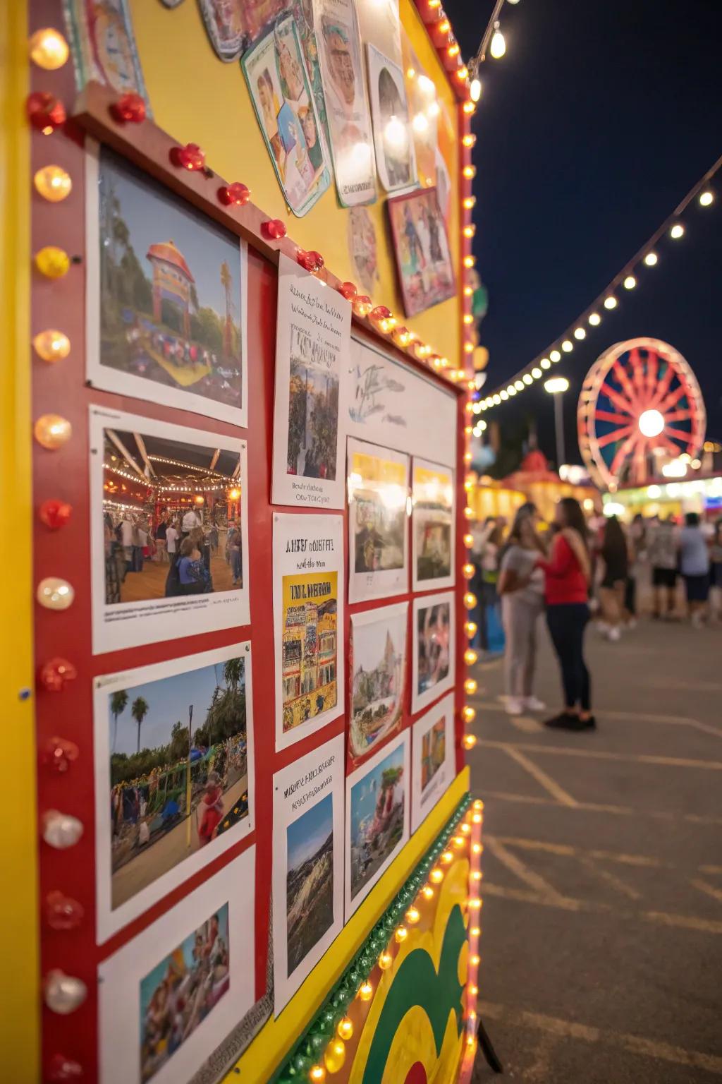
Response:
POLYGON ((111 906, 248 817, 246 659, 108 691, 111 906))

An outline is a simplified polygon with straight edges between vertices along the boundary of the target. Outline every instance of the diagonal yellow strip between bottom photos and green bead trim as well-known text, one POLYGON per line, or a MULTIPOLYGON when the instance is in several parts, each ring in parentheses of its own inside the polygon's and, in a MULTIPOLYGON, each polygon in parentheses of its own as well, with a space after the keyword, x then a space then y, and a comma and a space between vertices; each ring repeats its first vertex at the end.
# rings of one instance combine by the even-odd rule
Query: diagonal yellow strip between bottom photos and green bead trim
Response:
POLYGON ((313 1019, 319 1005, 349 965, 411 870, 432 846, 454 810, 469 790, 470 773, 464 767, 431 811, 421 827, 411 836, 381 880, 366 896, 344 926, 326 955, 299 988, 277 1020, 268 1020, 249 1048, 225 1077, 224 1084, 265 1084, 284 1054, 293 1045, 313 1019))

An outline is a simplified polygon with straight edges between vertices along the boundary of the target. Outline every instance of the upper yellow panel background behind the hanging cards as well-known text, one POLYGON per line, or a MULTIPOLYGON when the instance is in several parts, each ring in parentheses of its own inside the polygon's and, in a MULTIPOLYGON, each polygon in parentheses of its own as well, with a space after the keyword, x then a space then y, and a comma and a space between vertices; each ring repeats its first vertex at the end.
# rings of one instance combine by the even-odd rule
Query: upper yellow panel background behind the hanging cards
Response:
MULTIPOLYGON (((349 253, 349 210, 340 207, 331 186, 303 218, 286 206, 238 62, 224 64, 208 40, 197 3, 169 9, 158 0, 131 0, 133 26, 143 75, 157 125, 180 143, 198 143, 211 169, 226 181, 242 181, 251 199, 272 218, 283 219, 289 235, 303 248, 317 249, 327 267, 342 280, 360 284, 349 253)), ((457 124, 457 103, 435 49, 412 0, 401 0, 402 24, 436 93, 457 124)), ((458 163, 449 164, 451 228, 449 244, 458 274, 459 207, 458 163)), ((379 282, 377 305, 403 314, 396 284, 393 246, 385 196, 368 207, 377 233, 379 282)), ((460 361, 460 308, 457 298, 403 320, 437 353, 460 361)))

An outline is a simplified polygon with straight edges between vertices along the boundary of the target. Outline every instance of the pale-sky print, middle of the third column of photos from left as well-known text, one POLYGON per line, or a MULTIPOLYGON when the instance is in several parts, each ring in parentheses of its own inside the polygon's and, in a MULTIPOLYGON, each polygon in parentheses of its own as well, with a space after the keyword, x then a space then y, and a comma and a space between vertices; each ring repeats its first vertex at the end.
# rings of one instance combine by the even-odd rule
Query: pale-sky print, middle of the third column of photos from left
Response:
POLYGON ((351 767, 403 726, 407 624, 408 603, 352 615, 351 767))

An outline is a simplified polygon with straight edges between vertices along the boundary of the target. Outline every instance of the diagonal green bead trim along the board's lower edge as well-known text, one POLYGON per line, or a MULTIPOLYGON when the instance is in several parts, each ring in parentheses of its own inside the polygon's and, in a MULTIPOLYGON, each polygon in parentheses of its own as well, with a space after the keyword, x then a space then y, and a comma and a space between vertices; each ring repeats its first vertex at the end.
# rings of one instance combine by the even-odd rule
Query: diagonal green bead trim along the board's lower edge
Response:
POLYGON ((318 1054, 336 1033, 339 1021, 345 1016, 358 988, 376 965, 381 949, 388 943, 391 931, 398 919, 408 911, 426 875, 439 854, 446 849, 446 841, 471 804, 471 795, 465 793, 454 813, 442 828, 435 842, 430 847, 413 873, 391 901, 384 913, 377 919, 366 940, 356 951, 345 971, 320 1005, 296 1046, 286 1055, 284 1063, 272 1077, 273 1084, 298 1084, 307 1079, 309 1070, 318 1060, 318 1054), (381 947, 379 947, 379 945, 381 947), (370 960, 370 963, 369 963, 370 960))

